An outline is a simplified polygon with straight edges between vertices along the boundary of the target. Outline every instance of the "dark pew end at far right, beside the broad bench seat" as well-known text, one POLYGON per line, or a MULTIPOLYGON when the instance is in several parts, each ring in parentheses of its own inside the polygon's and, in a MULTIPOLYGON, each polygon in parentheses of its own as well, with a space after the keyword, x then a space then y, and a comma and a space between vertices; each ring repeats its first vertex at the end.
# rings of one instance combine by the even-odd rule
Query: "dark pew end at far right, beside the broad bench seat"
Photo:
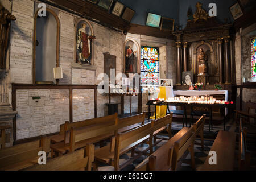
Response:
POLYGON ((243 127, 242 118, 240 118, 239 125, 239 154, 238 154, 238 164, 239 170, 249 170, 250 169, 251 154, 247 151, 246 146, 246 128, 243 127))

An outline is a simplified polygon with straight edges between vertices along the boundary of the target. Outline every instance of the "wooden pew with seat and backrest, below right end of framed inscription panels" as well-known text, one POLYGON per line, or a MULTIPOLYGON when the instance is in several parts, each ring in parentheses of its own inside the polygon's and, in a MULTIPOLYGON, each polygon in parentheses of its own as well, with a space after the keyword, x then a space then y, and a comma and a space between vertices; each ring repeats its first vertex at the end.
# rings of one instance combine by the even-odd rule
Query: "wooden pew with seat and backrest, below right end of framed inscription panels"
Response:
POLYGON ((117 130, 117 119, 112 122, 94 124, 86 127, 74 128, 65 133, 65 142, 51 145, 53 158, 59 154, 73 152, 85 147, 88 143, 97 143, 108 139, 117 130))

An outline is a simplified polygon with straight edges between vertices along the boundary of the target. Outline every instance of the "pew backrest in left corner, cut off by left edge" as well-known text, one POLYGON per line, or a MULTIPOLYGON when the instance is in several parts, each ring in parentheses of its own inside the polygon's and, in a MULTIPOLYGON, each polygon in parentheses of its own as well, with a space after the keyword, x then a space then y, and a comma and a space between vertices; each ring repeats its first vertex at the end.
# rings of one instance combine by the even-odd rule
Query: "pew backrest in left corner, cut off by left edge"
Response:
POLYGON ((50 140, 42 137, 40 140, 18 144, 0 150, 0 168, 15 163, 30 160, 38 156, 39 151, 49 152, 50 140))

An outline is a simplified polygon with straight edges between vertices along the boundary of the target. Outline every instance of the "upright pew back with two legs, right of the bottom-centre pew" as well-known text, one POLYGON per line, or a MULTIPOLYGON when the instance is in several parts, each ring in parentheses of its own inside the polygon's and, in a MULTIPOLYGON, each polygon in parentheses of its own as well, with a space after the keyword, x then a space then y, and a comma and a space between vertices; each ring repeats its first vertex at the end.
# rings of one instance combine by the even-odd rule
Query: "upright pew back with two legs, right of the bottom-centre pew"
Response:
POLYGON ((189 129, 180 139, 174 143, 174 154, 172 157, 172 171, 176 171, 177 163, 183 156, 185 151, 189 150, 191 153, 191 166, 195 169, 195 156, 194 156, 194 142, 195 133, 192 129, 189 129))

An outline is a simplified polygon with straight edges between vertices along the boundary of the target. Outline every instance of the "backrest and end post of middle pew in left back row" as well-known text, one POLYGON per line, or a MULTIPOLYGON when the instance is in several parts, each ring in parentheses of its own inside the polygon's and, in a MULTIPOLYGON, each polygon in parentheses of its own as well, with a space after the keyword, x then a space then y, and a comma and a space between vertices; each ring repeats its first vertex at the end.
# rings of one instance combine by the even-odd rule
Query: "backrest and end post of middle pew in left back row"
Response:
POLYGON ((101 137, 104 135, 112 134, 114 135, 115 131, 117 130, 117 119, 112 122, 106 122, 101 124, 95 124, 91 126, 86 127, 80 127, 80 128, 71 128, 70 135, 68 135, 69 132, 66 132, 65 137, 66 141, 69 138, 69 150, 75 151, 75 143, 80 142, 82 140, 95 138, 95 137, 101 137))

